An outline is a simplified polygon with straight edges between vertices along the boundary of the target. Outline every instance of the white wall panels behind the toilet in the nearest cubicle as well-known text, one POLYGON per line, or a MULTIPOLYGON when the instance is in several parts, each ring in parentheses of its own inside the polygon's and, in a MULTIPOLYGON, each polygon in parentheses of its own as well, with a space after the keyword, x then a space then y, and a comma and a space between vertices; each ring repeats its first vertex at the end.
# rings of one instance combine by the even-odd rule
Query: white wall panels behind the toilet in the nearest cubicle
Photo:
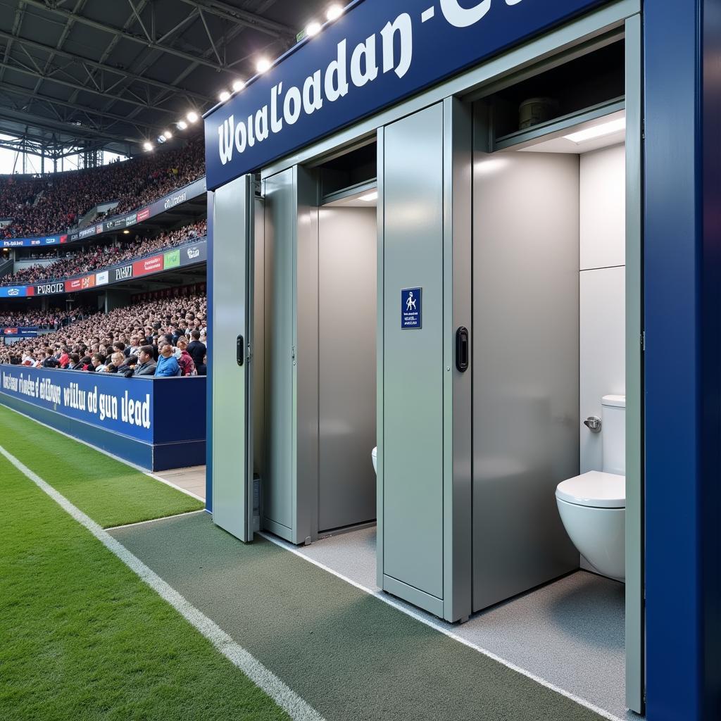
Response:
POLYGON ((580 158, 580 472, 601 470, 601 433, 583 420, 601 417, 603 395, 625 384, 625 149, 580 158))

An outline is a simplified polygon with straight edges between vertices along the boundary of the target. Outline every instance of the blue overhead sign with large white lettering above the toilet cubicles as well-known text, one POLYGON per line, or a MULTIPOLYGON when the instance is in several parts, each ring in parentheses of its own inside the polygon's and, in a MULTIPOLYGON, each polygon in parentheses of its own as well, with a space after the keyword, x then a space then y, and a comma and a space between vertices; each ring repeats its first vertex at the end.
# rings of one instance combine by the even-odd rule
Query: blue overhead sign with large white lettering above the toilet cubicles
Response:
POLYGON ((604 0, 359 0, 205 118, 214 189, 604 0))

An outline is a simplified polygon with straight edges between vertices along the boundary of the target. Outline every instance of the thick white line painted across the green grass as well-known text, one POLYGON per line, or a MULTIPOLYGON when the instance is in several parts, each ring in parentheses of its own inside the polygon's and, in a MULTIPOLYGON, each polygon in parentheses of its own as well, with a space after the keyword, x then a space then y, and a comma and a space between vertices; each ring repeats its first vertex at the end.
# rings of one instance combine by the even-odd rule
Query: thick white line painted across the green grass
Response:
POLYGON ((259 660, 254 658, 247 650, 237 644, 221 627, 195 608, 172 586, 166 583, 159 575, 146 566, 141 559, 133 555, 128 549, 114 539, 104 528, 101 528, 89 516, 70 501, 58 493, 48 482, 32 472, 22 464, 15 456, 9 454, 0 446, 0 454, 19 470, 25 477, 30 479, 45 494, 50 496, 58 505, 72 516, 81 526, 87 528, 95 538, 100 541, 112 554, 117 556, 126 566, 135 572, 141 580, 149 585, 156 593, 167 601, 178 613, 180 613, 190 624, 200 631, 213 646, 216 647, 230 662, 239 668, 256 686, 270 696, 278 706, 297 721, 325 721, 324 717, 311 707, 301 696, 298 696, 293 689, 275 676, 269 669, 265 668, 259 660))

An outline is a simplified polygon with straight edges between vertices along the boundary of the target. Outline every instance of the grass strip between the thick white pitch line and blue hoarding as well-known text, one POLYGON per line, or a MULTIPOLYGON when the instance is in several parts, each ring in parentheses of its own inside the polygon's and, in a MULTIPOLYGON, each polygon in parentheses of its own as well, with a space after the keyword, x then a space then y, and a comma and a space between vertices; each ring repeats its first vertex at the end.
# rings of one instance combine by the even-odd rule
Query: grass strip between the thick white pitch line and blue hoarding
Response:
POLYGON ((3 406, 0 446, 104 528, 205 507, 201 501, 3 406))

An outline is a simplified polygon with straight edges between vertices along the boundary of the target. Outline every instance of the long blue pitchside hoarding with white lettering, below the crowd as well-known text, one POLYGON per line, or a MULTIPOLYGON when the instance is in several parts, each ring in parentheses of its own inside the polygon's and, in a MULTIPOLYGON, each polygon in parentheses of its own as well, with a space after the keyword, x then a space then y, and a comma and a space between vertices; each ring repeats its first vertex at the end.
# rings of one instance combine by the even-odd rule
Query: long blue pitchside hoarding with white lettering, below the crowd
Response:
POLYGON ((205 377, 0 366, 0 403, 151 470, 205 463, 205 377), (183 398, 195 410, 174 419, 183 398))

